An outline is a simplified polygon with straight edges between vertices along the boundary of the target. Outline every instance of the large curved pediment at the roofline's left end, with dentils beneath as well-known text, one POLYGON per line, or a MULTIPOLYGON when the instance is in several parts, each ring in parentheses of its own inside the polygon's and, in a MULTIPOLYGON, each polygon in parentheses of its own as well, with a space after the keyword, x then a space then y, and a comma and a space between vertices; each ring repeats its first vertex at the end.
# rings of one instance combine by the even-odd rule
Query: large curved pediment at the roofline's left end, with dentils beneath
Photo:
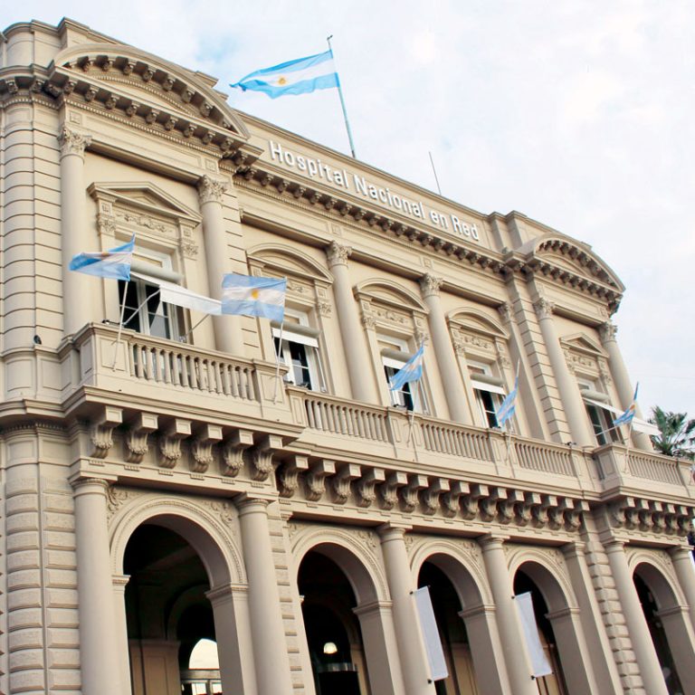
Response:
MULTIPOLYGON (((206 104, 206 113, 196 110, 195 117, 201 120, 212 121, 216 126, 233 133, 236 137, 244 140, 250 137, 249 130, 243 120, 233 111, 224 101, 223 97, 213 89, 213 85, 205 83, 205 78, 186 71, 173 62, 159 58, 152 53, 141 51, 122 43, 80 43, 59 52, 49 66, 49 72, 65 71, 71 73, 73 66, 85 64, 86 61, 97 62, 101 66, 99 72, 90 72, 91 81, 105 82, 113 84, 108 80, 110 70, 121 69, 124 65, 132 65, 130 71, 138 72, 144 70, 152 71, 152 77, 148 80, 148 85, 155 86, 159 90, 159 96, 170 106, 187 113, 190 110, 189 104, 206 104), (176 95, 176 98, 173 96, 176 95)), ((84 76, 85 73, 81 71, 84 76)), ((128 73, 129 74, 129 73, 128 73)), ((216 81, 215 81, 216 82, 216 81)), ((120 82, 122 84, 122 82, 120 82)), ((122 84, 127 89, 133 90, 131 83, 122 84)), ((137 88, 135 88, 137 90, 137 88)), ((138 90, 142 91, 142 90, 138 90)), ((151 94, 151 89, 148 90, 151 94)))

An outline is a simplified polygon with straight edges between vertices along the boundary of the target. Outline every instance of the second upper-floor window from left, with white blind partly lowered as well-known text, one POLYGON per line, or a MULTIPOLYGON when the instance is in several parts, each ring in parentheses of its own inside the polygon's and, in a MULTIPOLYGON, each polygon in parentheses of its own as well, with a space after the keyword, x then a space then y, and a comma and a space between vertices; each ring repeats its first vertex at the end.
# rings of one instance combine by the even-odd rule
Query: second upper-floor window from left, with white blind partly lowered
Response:
POLYGON ((272 326, 275 352, 290 370, 290 384, 303 386, 311 391, 326 391, 326 384, 319 358, 319 330, 309 326, 307 314, 285 309, 282 329, 272 326))

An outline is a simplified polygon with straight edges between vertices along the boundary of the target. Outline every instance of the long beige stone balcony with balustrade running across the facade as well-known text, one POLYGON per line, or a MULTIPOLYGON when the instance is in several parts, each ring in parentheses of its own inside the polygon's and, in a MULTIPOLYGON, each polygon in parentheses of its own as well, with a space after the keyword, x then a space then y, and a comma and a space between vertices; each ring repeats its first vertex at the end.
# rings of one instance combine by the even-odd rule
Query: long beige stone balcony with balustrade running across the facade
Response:
POLYGON ((541 442, 348 401, 284 384, 273 363, 132 331, 118 342, 117 335, 115 327, 90 325, 57 356, 42 353, 41 359, 62 364, 60 400, 68 412, 89 414, 87 406, 99 403, 290 433, 292 449, 309 456, 490 485, 513 481, 557 494, 571 490, 586 500, 650 495, 653 483, 680 504, 695 498, 689 465, 656 453, 541 442))

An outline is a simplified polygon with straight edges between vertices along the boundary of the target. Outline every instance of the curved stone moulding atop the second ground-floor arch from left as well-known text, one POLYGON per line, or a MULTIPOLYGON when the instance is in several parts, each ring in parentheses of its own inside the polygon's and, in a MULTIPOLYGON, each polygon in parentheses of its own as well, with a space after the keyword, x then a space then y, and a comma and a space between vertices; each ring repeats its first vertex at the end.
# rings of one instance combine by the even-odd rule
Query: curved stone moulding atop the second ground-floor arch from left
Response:
POLYGON ((297 582, 301 561, 314 551, 329 557, 348 577, 357 605, 389 598, 384 576, 376 557, 352 534, 337 528, 305 528, 293 538, 294 581, 297 582))

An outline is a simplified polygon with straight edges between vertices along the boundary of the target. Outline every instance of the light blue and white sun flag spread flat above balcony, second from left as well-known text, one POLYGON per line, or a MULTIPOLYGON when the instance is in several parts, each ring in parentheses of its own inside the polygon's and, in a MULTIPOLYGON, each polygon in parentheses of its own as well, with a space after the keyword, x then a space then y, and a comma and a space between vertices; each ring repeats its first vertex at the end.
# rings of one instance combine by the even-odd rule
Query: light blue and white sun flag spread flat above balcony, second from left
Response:
POLYGON ((282 323, 287 278, 254 278, 229 272, 222 281, 222 313, 260 316, 282 323))

